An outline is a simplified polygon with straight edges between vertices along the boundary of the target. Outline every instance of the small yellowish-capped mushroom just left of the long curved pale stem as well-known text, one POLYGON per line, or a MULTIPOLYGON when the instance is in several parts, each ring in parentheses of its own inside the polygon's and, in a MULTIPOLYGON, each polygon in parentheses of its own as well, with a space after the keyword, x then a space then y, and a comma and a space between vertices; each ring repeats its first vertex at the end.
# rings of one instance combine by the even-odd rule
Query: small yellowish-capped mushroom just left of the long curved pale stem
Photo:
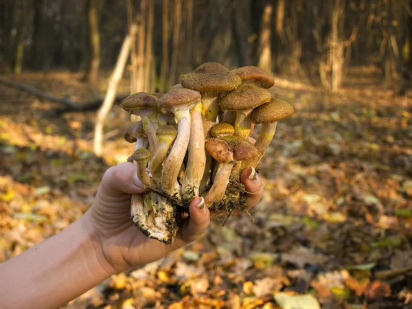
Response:
POLYGON ((158 147, 152 160, 150 160, 150 172, 152 173, 153 182, 159 188, 161 188, 162 164, 168 155, 168 150, 176 138, 176 135, 176 128, 170 125, 160 126, 156 131, 158 147))

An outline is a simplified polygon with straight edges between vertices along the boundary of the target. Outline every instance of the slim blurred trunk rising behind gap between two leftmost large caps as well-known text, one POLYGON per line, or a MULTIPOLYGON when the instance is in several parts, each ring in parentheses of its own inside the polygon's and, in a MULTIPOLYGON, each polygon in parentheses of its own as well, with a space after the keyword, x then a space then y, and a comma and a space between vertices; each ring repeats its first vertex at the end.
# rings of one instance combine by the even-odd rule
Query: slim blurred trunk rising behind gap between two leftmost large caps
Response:
POLYGON ((161 30, 161 70, 160 70, 160 93, 165 93, 169 89, 169 0, 163 0, 163 18, 161 30))

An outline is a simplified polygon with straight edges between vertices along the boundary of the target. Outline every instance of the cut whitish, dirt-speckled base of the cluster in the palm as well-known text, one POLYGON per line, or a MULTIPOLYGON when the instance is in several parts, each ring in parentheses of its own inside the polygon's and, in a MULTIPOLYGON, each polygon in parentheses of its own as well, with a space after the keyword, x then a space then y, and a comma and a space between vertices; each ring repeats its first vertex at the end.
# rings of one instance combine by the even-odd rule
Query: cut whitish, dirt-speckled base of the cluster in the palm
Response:
POLYGON ((171 244, 179 227, 177 209, 155 191, 133 194, 130 214, 145 236, 171 244))

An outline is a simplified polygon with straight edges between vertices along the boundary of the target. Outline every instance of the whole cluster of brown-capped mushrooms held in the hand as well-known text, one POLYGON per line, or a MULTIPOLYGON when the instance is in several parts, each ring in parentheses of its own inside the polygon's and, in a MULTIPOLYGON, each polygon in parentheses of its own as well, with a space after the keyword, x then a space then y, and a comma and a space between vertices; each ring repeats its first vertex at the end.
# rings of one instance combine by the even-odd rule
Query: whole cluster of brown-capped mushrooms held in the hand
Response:
POLYGON ((182 76, 168 93, 135 93, 122 108, 141 121, 124 138, 135 143, 128 161, 148 192, 133 195, 131 216, 149 238, 174 241, 195 196, 211 209, 246 210, 240 174, 255 168, 271 144, 277 121, 293 115, 288 102, 266 90, 273 78, 258 67, 207 62, 182 76), (249 138, 262 124, 255 143, 249 138))

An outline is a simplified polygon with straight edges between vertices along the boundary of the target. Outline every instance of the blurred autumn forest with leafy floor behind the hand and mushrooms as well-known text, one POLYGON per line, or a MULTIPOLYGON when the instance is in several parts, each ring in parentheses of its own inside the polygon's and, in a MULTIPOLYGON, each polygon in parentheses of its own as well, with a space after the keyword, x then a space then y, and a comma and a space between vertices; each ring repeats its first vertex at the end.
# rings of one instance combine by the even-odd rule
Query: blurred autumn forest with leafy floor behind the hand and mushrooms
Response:
POLYGON ((412 308, 411 0, 0 0, 0 262, 126 161, 116 102, 211 61, 272 72, 295 107, 255 220, 65 308, 412 308))

